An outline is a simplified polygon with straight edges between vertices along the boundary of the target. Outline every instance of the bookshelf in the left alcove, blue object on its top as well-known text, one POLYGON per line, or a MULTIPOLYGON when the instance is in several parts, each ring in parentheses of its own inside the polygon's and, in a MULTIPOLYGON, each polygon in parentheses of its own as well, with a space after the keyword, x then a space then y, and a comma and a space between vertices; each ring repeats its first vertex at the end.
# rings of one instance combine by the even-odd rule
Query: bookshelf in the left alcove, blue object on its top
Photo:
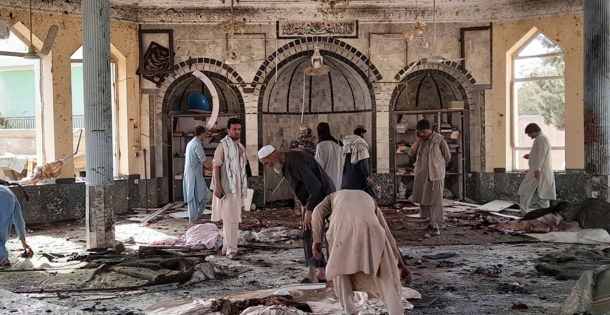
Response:
MULTIPOLYGON (((170 200, 179 201, 184 200, 182 194, 182 180, 184 177, 184 152, 188 141, 193 139, 193 131, 196 126, 205 126, 207 119, 209 119, 210 113, 196 113, 196 114, 176 114, 168 115, 168 126, 170 126, 169 135, 169 149, 168 149, 168 164, 171 171, 170 175, 170 200)), ((226 129, 226 124, 229 118, 239 118, 239 113, 220 113, 218 114, 218 121, 212 130, 206 132, 206 138, 203 140, 203 151, 206 154, 207 161, 212 164, 212 158, 216 150, 214 143, 210 144, 210 140, 213 136, 217 136, 219 133, 226 129)), ((212 181, 212 171, 204 169, 204 179, 206 180, 207 186, 210 186, 212 181)))

